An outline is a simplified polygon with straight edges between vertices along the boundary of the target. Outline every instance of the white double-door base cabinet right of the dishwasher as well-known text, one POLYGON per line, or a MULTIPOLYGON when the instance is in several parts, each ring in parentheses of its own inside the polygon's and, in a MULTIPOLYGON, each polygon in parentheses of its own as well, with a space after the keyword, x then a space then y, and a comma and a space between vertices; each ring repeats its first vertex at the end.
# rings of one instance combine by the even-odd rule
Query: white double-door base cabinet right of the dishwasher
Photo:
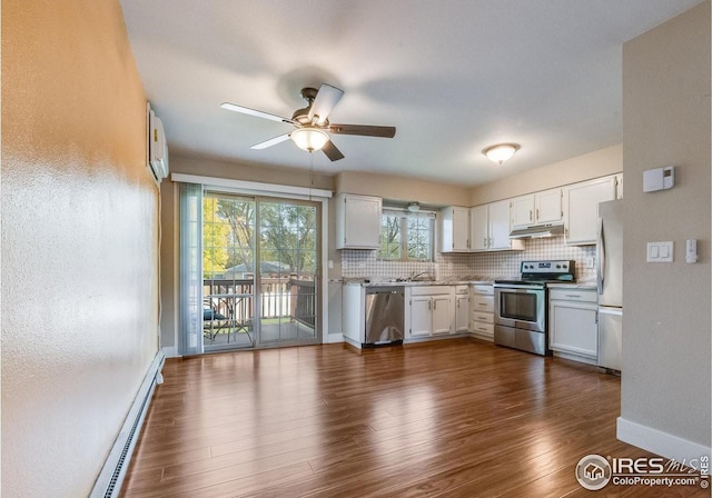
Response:
POLYGON ((412 338, 453 331, 454 290, 451 286, 412 287, 408 336, 412 338))

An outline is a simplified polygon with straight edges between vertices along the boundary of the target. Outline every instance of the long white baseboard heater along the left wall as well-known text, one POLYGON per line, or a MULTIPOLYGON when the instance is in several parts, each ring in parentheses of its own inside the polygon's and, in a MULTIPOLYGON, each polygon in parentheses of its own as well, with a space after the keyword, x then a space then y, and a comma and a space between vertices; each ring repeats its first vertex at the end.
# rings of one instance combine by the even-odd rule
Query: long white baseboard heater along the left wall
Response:
POLYGON ((154 390, 157 384, 162 382, 160 374, 166 362, 166 356, 162 351, 158 351, 156 358, 146 372, 144 384, 141 384, 131 409, 126 416, 126 420, 121 426, 121 430, 113 441, 111 451, 99 472, 99 477, 89 494, 89 498, 117 498, 121 491, 121 485, 129 468, 129 461, 134 454, 134 447, 141 434, 141 426, 151 402, 154 390))

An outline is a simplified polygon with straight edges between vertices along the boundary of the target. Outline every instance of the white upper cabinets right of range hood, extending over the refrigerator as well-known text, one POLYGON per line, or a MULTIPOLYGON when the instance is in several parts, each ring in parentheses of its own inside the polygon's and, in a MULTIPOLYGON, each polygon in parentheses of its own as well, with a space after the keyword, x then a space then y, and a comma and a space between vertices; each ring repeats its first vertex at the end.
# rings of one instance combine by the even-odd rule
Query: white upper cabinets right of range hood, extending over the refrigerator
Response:
POLYGON ((599 202, 615 199, 615 176, 574 183, 564 189, 564 237, 566 243, 596 243, 599 202))

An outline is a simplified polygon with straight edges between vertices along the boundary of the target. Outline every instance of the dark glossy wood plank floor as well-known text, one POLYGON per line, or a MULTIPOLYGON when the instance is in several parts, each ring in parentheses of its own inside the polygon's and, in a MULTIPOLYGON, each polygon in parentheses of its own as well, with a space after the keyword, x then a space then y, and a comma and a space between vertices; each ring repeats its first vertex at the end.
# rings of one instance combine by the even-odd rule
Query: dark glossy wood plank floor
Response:
MULTIPOLYGON (((620 379, 475 339, 169 360, 123 497, 583 497, 620 379)), ((609 485, 596 496, 710 496, 609 485)))

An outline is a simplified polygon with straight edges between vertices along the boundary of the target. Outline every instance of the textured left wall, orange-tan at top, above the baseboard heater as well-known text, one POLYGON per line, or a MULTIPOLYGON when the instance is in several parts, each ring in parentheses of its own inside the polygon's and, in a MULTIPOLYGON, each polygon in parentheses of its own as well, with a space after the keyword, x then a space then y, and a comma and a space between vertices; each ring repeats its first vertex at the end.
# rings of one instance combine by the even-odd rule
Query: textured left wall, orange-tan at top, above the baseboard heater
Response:
POLYGON ((157 351, 157 189, 118 1, 2 1, 2 496, 87 496, 157 351))

